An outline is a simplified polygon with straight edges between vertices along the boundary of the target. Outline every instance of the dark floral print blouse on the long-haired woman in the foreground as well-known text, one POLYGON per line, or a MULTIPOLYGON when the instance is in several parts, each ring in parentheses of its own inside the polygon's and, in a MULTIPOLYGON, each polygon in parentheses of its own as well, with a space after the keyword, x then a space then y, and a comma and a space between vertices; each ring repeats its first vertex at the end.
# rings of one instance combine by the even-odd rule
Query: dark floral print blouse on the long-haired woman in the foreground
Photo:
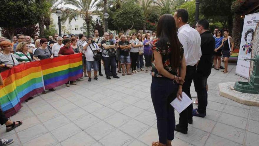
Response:
MULTIPOLYGON (((159 38, 154 40, 152 50, 156 50, 158 53, 160 53, 162 55, 162 63, 163 63, 165 70, 167 70, 169 73, 171 73, 173 75, 177 75, 178 68, 171 68, 171 63, 170 63, 172 46, 170 45, 169 42, 167 42, 167 48, 161 48, 160 45, 157 43, 158 41, 159 41, 159 38)), ((180 60, 182 60, 183 47, 181 47, 180 49, 182 50, 180 60)), ((152 61, 151 75, 152 75, 152 77, 164 77, 162 74, 158 73, 158 71, 156 69, 155 60, 152 61)))

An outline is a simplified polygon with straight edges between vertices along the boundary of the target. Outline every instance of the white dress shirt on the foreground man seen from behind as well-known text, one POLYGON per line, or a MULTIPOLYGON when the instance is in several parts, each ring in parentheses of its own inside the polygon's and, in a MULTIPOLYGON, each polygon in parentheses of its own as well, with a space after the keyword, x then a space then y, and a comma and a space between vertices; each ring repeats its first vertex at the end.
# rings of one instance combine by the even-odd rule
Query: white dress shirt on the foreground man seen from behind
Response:
POLYGON ((185 24, 178 29, 178 39, 184 49, 186 65, 194 66, 201 57, 201 38, 197 30, 185 24))

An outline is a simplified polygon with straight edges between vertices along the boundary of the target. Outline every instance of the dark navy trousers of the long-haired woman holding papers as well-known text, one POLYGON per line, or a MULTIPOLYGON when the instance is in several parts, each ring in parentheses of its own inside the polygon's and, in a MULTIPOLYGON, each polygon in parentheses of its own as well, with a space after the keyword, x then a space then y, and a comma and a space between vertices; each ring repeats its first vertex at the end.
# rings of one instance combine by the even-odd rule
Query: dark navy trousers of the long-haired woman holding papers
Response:
POLYGON ((170 105, 176 98, 178 84, 165 77, 152 78, 151 98, 157 116, 159 142, 174 139, 175 109, 170 105))

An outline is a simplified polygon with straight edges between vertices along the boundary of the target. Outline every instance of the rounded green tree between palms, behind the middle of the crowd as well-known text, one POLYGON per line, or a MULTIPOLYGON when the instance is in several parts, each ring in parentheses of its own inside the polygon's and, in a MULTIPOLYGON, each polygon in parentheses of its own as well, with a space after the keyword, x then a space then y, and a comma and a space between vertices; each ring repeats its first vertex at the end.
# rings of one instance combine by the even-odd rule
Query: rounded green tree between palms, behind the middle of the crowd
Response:
POLYGON ((142 29, 145 18, 141 7, 134 1, 129 1, 125 5, 127 6, 122 6, 122 8, 117 9, 114 13, 114 25, 119 27, 125 34, 130 29, 142 29))

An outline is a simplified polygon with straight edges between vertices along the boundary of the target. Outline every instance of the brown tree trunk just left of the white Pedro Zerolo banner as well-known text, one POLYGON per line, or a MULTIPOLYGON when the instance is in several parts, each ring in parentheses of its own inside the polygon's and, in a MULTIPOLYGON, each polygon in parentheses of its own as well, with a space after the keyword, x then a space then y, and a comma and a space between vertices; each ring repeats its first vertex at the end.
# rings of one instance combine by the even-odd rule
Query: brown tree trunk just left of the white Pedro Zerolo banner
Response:
POLYGON ((240 46, 240 33, 241 33, 241 14, 235 13, 233 16, 233 29, 232 29, 232 38, 234 39, 235 42, 235 47, 234 48, 239 48, 240 46))

